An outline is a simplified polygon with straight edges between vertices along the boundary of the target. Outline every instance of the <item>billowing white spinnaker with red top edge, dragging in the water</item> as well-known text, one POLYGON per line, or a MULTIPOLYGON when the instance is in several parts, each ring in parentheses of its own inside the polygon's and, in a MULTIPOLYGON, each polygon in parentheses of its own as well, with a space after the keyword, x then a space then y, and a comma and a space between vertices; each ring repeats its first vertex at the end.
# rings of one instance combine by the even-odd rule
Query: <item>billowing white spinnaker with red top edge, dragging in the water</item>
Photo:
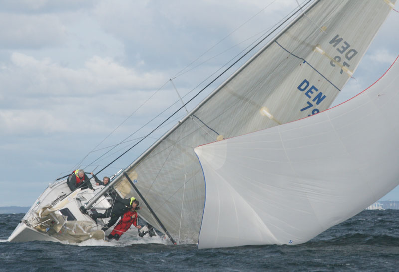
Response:
POLYGON ((206 180, 198 247, 304 243, 395 188, 398 62, 337 107, 197 147, 206 180))

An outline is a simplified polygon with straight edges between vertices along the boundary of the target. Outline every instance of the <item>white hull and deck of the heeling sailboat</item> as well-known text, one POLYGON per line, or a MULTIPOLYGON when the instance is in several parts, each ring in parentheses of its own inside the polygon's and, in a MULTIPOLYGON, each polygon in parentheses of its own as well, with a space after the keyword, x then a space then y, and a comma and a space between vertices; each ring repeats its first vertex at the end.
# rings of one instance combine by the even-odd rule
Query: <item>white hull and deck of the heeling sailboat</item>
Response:
MULTIPOLYGON (((99 219, 94 222, 88 214, 82 213, 79 209, 102 189, 102 187, 94 188, 95 190, 77 189, 71 192, 66 180, 50 184, 25 214, 8 241, 38 240, 68 243, 90 238, 103 239, 105 234, 101 231, 101 227, 107 221, 99 219)), ((99 213, 110 206, 105 197, 101 197, 95 204, 99 213)))

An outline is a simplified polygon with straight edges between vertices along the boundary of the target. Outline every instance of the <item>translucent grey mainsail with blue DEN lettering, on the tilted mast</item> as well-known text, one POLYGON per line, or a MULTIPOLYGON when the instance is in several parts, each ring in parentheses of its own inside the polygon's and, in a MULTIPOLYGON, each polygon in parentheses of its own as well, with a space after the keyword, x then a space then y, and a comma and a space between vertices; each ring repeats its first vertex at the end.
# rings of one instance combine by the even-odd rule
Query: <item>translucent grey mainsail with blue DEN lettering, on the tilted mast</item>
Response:
MULTIPOLYGON (((194 148, 327 109, 394 2, 314 1, 125 169, 178 243, 196 243, 200 233, 205 181, 194 148)), ((113 185, 137 197, 125 174, 113 185)), ((140 215, 164 229, 149 209, 140 215)))

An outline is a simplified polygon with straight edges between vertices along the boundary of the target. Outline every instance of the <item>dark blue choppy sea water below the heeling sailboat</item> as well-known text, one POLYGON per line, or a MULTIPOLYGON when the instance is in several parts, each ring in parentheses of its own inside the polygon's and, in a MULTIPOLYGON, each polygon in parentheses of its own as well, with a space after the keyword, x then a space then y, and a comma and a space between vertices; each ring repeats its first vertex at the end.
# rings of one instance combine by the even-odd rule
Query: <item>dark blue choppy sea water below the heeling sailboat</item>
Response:
POLYGON ((302 245, 206 250, 126 238, 80 245, 6 242, 22 217, 0 214, 1 272, 399 271, 399 210, 363 211, 302 245))

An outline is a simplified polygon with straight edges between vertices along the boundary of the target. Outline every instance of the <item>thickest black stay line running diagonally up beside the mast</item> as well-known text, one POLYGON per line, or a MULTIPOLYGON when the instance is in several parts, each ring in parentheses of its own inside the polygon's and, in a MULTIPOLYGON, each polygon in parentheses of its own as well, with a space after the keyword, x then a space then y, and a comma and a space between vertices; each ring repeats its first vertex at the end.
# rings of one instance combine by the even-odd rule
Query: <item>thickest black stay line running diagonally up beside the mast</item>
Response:
MULTIPOLYGON (((312 0, 309 0, 307 3, 311 2, 312 0)), ((306 3, 306 4, 307 4, 306 3)), ((245 54, 243 54, 240 58, 238 58, 233 64, 231 64, 229 67, 227 67, 221 74, 219 74, 217 77, 215 77, 210 83, 208 83, 204 88, 202 88, 202 90, 200 90, 196 95, 194 95, 189 101, 187 101, 185 103, 185 105, 187 105, 188 103, 190 103, 191 101, 193 101, 198 95, 200 95, 200 93, 202 91, 204 91, 207 87, 209 87, 213 82, 215 82, 217 79, 219 79, 223 74, 225 74, 228 70, 231 69, 231 67, 233 67, 236 63, 238 63, 241 59, 243 59, 246 55, 248 55, 252 50, 254 50, 259 44, 261 44, 265 39, 267 39, 271 34, 273 34, 275 31, 277 31, 278 28, 280 28, 284 23, 286 23, 289 19, 291 19, 296 13, 298 13, 300 11, 300 9, 298 9, 297 11, 295 11, 291 16, 289 16, 286 20, 284 20, 278 27, 276 27, 273 31, 271 31, 268 35, 266 35, 263 39, 261 39, 258 43, 256 43, 250 50, 248 50, 245 54)), ((146 135, 145 138, 147 138, 149 135, 151 135, 154 131, 156 131, 160 126, 162 126, 164 123, 166 123, 166 121, 168 121, 170 118, 172 118, 172 116, 174 116, 177 112, 179 112, 181 109, 183 108, 180 107, 178 110, 176 110, 171 116, 169 116, 167 119, 165 119, 161 124, 159 124, 155 129, 153 129, 150 133, 148 133, 146 135)), ((111 165, 112 163, 114 163, 116 160, 118 160, 120 157, 122 157, 123 155, 125 155, 127 152, 129 152, 133 147, 135 147, 136 145, 138 145, 140 142, 142 142, 145 138, 141 139, 138 143, 136 143, 135 145, 133 145, 132 147, 130 147, 128 150, 126 150, 124 153, 122 153, 119 157, 117 157, 116 159, 114 159, 112 162, 110 162, 106 167, 104 167, 103 169, 101 169, 99 172, 96 173, 99 174, 101 171, 103 171, 105 168, 107 168, 109 165, 111 165)))

